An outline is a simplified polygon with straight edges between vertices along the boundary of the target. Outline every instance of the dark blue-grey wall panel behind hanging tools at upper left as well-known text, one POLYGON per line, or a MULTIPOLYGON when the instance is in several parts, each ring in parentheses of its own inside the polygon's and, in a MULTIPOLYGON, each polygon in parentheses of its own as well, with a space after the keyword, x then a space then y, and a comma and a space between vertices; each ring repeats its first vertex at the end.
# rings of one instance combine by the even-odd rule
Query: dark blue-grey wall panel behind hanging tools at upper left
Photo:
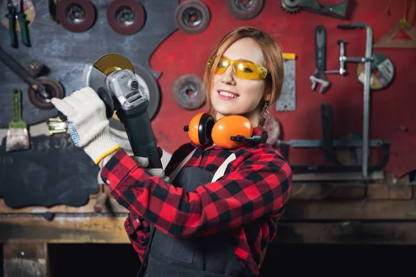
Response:
MULTIPOLYGON (((87 1, 87 0, 86 0, 87 1)), ((159 78, 160 72, 150 68, 150 55, 164 39, 177 30, 175 8, 179 0, 140 0, 146 13, 143 28, 133 35, 120 35, 107 24, 107 6, 111 0, 91 0, 96 8, 96 22, 89 30, 71 33, 49 17, 49 1, 33 0, 35 19, 29 27, 32 47, 22 44, 12 48, 8 30, 0 24, 0 46, 25 68, 33 60, 49 68, 49 76, 64 87, 66 96, 81 88, 85 64, 92 64, 107 53, 120 53, 133 63, 147 69, 159 78)), ((0 0, 0 17, 7 14, 7 0, 0 0)), ((21 34, 18 34, 20 40, 21 34)), ((58 115, 56 109, 39 109, 28 100, 25 84, 0 62, 0 128, 6 128, 12 118, 10 93, 12 89, 23 91, 23 118, 28 125, 40 123, 58 115), (10 93, 6 93, 9 91, 10 93)))

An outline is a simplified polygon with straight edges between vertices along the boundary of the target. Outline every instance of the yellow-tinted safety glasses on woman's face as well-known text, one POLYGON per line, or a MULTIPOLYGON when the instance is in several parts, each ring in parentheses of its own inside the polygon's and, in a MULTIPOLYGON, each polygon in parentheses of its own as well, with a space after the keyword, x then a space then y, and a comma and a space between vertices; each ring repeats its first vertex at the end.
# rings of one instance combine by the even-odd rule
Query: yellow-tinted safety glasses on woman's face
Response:
MULTIPOLYGON (((209 68, 211 68, 212 62, 213 60, 208 62, 209 68)), ((225 57, 220 58, 215 73, 222 75, 228 69, 228 66, 232 66, 234 74, 236 74, 237 78, 241 79, 262 80, 266 78, 268 74, 267 69, 259 64, 254 64, 254 62, 248 62, 245 60, 229 60, 225 57)))

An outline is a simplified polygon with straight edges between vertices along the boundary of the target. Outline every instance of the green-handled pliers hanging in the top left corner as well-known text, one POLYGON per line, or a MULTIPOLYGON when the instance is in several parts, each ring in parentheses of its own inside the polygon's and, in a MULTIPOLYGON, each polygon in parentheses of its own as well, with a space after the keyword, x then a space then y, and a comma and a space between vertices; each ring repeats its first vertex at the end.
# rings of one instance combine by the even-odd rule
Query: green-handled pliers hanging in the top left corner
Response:
POLYGON ((30 47, 31 42, 29 42, 29 33, 28 33, 28 23, 26 21, 26 15, 21 5, 22 0, 8 0, 8 27, 9 27, 9 36, 10 36, 10 46, 17 48, 17 31, 16 31, 16 19, 19 19, 19 25, 21 30, 21 42, 30 47))

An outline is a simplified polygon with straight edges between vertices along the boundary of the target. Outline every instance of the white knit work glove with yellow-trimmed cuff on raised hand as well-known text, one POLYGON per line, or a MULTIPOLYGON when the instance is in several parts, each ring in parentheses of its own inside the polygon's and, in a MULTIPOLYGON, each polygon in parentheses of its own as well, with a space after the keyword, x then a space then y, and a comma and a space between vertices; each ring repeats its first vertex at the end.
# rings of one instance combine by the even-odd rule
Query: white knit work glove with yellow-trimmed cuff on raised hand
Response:
POLYGON ((73 143, 83 148, 94 163, 120 148, 111 138, 105 104, 94 89, 85 87, 63 99, 52 98, 51 102, 67 116, 73 143))

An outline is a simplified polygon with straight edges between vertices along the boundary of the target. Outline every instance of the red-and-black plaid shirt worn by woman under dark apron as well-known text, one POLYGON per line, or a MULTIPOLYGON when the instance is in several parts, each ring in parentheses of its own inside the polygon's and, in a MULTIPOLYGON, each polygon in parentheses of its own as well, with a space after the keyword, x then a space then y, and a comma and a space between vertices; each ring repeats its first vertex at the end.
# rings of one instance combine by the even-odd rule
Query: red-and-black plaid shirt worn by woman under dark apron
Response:
MULTIPOLYGON (((259 127, 253 129, 253 135, 261 132, 259 127)), ((192 193, 148 175, 122 149, 107 162, 101 177, 116 201, 130 212, 125 220, 130 242, 143 260, 150 236, 149 222, 174 238, 227 230, 245 274, 257 276, 261 251, 275 237, 277 221, 288 202, 291 168, 266 143, 233 150, 186 143, 173 153, 166 176, 195 148, 184 168, 196 166, 216 172, 231 152, 236 159, 218 181, 192 193)))

